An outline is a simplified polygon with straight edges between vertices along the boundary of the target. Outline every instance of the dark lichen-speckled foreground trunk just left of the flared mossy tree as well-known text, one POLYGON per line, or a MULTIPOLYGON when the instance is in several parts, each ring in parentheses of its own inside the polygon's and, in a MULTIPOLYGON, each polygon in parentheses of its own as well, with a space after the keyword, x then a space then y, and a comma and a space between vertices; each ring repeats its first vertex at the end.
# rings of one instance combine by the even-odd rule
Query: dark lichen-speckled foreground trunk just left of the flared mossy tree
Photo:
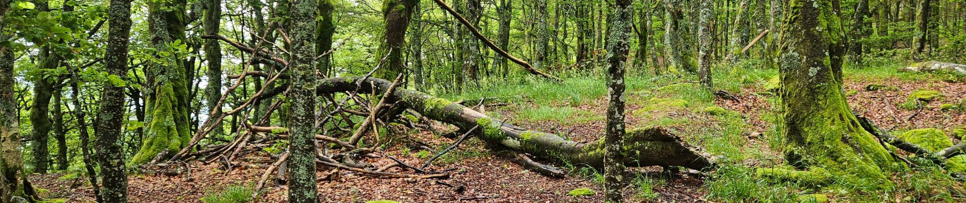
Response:
MULTIPOLYGON (((126 78, 128 75, 128 38, 130 36, 130 1, 111 0, 108 13, 110 27, 104 66, 108 73, 126 78)), ((124 87, 104 84, 97 117, 95 148, 100 164, 103 202, 128 202, 128 173, 121 148, 121 125, 124 119, 124 87)), ((79 107, 78 107, 79 108, 79 107)))

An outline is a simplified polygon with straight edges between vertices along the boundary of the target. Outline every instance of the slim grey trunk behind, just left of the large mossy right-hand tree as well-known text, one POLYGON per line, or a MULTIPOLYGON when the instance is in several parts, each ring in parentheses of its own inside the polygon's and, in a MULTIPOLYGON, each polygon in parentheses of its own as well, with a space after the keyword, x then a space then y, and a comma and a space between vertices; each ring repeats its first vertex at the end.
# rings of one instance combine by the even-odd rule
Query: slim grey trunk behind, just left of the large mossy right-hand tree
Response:
POLYGON ((699 0, 702 8, 697 15, 697 78, 702 87, 712 89, 711 84, 711 48, 712 43, 711 26, 715 17, 714 7, 711 0, 699 0))

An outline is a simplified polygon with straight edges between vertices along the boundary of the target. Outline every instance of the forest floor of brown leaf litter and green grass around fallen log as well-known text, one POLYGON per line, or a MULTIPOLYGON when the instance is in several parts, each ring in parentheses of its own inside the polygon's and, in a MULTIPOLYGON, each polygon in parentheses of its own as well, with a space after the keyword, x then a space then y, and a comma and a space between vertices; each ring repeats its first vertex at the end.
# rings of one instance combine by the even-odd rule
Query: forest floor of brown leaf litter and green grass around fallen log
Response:
MULTIPOLYGON (((916 174, 895 174, 893 179, 897 189, 884 193, 841 188, 810 189, 756 179, 751 168, 782 164, 781 150, 773 149, 782 145, 781 135, 775 127, 775 120, 780 117, 775 111, 779 99, 767 88, 777 72, 738 69, 721 72, 716 73, 716 85, 734 94, 738 101, 716 99, 713 94, 698 89, 694 83, 681 83, 693 81, 691 78, 629 79, 629 129, 652 125, 666 127, 683 140, 722 156, 726 166, 710 173, 694 170, 663 172, 657 166, 630 168, 632 178, 628 180, 625 190, 627 202, 787 201, 807 193, 827 194, 832 202, 869 199, 895 202, 963 200, 962 194, 953 192, 962 190, 960 182, 909 180, 920 177, 916 174), (724 108, 725 113, 713 113, 710 107, 715 106, 724 108), (933 186, 923 187, 923 183, 933 186), (951 189, 937 190, 943 187, 951 189)), ((966 99, 966 83, 946 83, 939 77, 898 73, 895 70, 849 69, 845 92, 855 112, 867 115, 883 128, 893 129, 894 134, 918 128, 952 132, 954 128, 966 127, 963 110, 940 107, 966 99), (867 90, 866 87, 871 84, 881 85, 885 89, 867 90), (945 96, 934 102, 923 103, 922 110, 901 108, 909 94, 917 89, 937 90, 945 96)), ((522 127, 555 133, 570 140, 590 141, 601 138, 605 132, 605 92, 602 80, 574 79, 563 84, 527 84, 442 96, 453 100, 482 96, 517 97, 506 102, 505 106, 486 108, 485 112, 522 127)), ((409 137, 436 149, 444 148, 452 141, 426 131, 413 132, 409 137)), ((958 141, 960 138, 953 138, 951 134, 951 139, 958 141)), ((409 165, 422 165, 433 154, 407 147, 403 139, 394 141, 399 144, 389 145, 386 153, 409 165)), ((429 170, 449 171, 451 178, 440 181, 465 187, 462 191, 433 179, 387 179, 347 171, 319 171, 320 199, 323 202, 383 199, 399 202, 601 202, 603 199, 601 192, 588 196, 568 195, 568 191, 579 188, 602 190, 599 184, 601 175, 592 168, 557 163, 555 165, 565 168, 568 175, 559 179, 549 178, 528 171, 497 154, 487 149, 480 140, 468 140, 429 167, 429 170)), ((246 163, 245 166, 231 170, 218 169, 220 166, 217 164, 192 164, 190 177, 186 174, 173 177, 131 175, 131 200, 203 202, 202 197, 224 193, 233 186, 247 187, 250 193, 251 185, 259 179, 265 167, 271 165, 270 159, 264 154, 257 154, 241 161, 246 163)), ((363 158, 359 161, 371 165, 392 163, 385 158, 363 158)), ((412 170, 399 167, 388 171, 412 173, 412 170)), ((43 192, 46 197, 92 201, 91 187, 86 184, 86 179, 68 176, 64 173, 33 175, 31 181, 36 187, 46 190, 43 192)), ((285 201, 284 185, 269 183, 266 192, 255 202, 285 201)))

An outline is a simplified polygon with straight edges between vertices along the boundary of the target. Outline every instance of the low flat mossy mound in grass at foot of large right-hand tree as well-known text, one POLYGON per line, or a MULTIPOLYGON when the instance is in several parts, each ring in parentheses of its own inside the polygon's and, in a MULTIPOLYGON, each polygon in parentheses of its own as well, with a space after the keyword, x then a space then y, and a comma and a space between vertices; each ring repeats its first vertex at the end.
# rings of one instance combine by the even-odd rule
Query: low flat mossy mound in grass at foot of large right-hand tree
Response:
POLYGON ((796 170, 790 166, 775 168, 757 168, 754 170, 759 177, 773 178, 783 181, 793 181, 805 185, 820 187, 832 183, 832 172, 822 167, 811 167, 810 170, 796 170))

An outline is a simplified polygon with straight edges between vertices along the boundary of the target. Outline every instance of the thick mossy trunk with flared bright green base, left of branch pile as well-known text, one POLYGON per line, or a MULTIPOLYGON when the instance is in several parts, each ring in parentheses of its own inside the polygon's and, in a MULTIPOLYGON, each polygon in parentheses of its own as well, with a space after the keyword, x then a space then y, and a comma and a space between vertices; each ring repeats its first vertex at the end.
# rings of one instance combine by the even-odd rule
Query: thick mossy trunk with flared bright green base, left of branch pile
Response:
POLYGON ((151 45, 158 53, 145 71, 145 140, 128 165, 148 163, 165 150, 174 154, 191 139, 184 53, 173 48, 176 41, 185 44, 185 0, 152 1, 148 8, 151 45))

